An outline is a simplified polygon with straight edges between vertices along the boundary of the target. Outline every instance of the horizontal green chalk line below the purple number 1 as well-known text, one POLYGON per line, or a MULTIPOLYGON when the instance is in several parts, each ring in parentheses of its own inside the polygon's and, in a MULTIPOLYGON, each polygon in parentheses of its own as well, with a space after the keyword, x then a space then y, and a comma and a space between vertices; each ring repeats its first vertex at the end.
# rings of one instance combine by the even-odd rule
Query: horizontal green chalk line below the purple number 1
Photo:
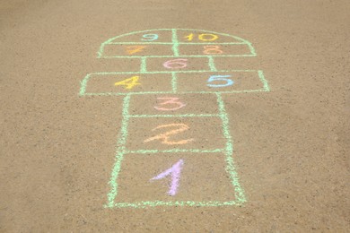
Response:
POLYGON ((162 201, 153 201, 153 202, 136 202, 136 203, 116 203, 114 207, 117 208, 146 208, 146 207, 156 207, 156 206, 197 206, 197 207, 218 207, 218 206, 232 206, 232 205, 241 205, 241 201, 229 201, 229 202, 195 202, 195 201, 176 201, 176 202, 162 202, 162 201))

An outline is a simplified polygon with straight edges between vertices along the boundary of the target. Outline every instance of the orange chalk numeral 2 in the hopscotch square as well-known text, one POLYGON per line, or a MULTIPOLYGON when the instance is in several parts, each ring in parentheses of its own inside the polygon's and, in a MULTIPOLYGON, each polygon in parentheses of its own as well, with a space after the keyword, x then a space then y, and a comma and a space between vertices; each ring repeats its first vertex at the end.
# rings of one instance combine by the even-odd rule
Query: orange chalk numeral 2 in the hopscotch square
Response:
POLYGON ((157 129, 162 129, 162 128, 168 128, 168 127, 178 127, 178 128, 177 129, 173 129, 171 131, 168 131, 168 132, 166 132, 164 134, 158 134, 158 135, 155 135, 153 137, 150 137, 150 138, 144 140, 144 142, 152 142, 154 140, 162 140, 162 144, 183 145, 183 144, 187 144, 188 142, 194 141, 193 138, 180 140, 178 142, 169 141, 169 136, 170 135, 179 134, 179 133, 184 132, 184 131, 189 129, 188 125, 185 125, 185 124, 159 125, 159 126, 153 128, 152 131, 157 130, 157 129))

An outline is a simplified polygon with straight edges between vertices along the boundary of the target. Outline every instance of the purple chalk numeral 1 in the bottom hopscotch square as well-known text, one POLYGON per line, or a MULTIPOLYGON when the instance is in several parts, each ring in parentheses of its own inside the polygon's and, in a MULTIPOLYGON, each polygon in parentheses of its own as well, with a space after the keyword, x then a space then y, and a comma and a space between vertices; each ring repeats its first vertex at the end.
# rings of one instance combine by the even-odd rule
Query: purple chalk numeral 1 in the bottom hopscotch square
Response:
POLYGON ((171 168, 163 171, 158 176, 153 177, 151 179, 151 181, 162 179, 164 177, 168 177, 169 175, 171 175, 171 186, 170 186, 170 189, 168 191, 168 194, 170 194, 170 195, 177 194, 178 187, 179 187, 179 177, 181 175, 181 169, 182 169, 183 163, 184 163, 183 160, 179 160, 174 165, 172 165, 171 168))

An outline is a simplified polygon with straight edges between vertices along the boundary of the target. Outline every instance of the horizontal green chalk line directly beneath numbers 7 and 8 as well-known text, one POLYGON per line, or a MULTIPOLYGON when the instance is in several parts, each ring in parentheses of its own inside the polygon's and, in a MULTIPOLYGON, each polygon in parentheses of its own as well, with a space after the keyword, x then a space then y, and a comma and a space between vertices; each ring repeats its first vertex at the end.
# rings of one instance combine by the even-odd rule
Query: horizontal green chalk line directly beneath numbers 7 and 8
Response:
MULTIPOLYGON (((254 48, 253 48, 254 49, 254 48)), ((240 57, 240 56, 257 56, 256 54, 244 54, 244 55, 211 55, 211 56, 226 56, 226 57, 240 57)), ((141 58, 141 57, 149 57, 149 58, 174 58, 174 57, 208 57, 207 55, 183 55, 183 56, 171 56, 171 55, 150 55, 150 56, 98 56, 97 58, 141 58)))

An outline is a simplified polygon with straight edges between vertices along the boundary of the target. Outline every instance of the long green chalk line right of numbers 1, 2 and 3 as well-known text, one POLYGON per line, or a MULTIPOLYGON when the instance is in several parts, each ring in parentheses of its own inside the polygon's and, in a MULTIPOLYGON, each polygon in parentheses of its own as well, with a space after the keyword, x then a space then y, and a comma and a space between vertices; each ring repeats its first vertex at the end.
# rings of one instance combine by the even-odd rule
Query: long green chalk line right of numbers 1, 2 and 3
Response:
POLYGON ((225 148, 225 160, 226 160, 226 171, 230 175, 231 180, 232 180, 232 185, 235 190, 235 197, 238 201, 241 203, 246 202, 246 197, 244 195, 244 191, 241 188, 238 174, 236 172, 235 166, 234 166, 234 161, 232 158, 232 153, 233 153, 233 142, 232 142, 232 136, 230 134, 230 126, 229 126, 229 117, 226 113, 226 109, 224 108, 224 102, 223 98, 220 93, 216 94, 217 97, 217 103, 219 105, 219 112, 220 112, 220 117, 223 122, 223 136, 226 138, 226 148, 225 148))

